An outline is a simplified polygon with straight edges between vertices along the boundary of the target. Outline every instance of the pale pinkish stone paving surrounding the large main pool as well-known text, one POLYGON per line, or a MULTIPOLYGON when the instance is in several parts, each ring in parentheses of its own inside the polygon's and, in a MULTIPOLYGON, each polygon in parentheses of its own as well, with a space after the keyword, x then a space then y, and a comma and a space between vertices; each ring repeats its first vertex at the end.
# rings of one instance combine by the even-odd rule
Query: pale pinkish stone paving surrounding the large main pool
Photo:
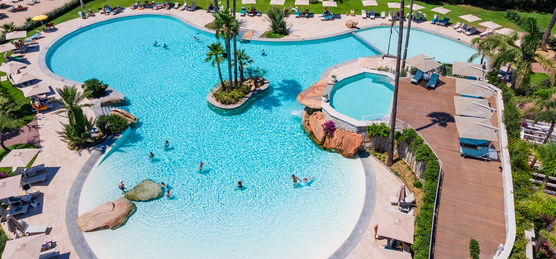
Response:
MULTIPOLYGON (((56 1, 56 0, 54 0, 56 1)), ((57 3, 49 1, 48 3, 57 3)), ((42 3, 41 3, 42 4, 42 3)), ((34 6, 38 7, 38 6, 34 6)), ((93 8, 95 9, 95 8, 93 8)), ((144 10, 130 10, 125 9, 123 11, 126 13, 140 13, 144 10)), ((152 9, 149 12, 153 12, 152 9)), ((158 10, 154 12, 160 13, 171 13, 178 16, 186 18, 188 21, 197 24, 198 26, 204 26, 206 23, 212 21, 212 16, 202 10, 197 10, 195 12, 178 11, 177 9, 168 10, 158 10)), ((28 17, 28 15, 26 16, 28 17)), ((111 16, 114 17, 114 16, 111 16)), ((117 17, 117 16, 116 16, 117 17)), ((56 81, 41 72, 38 68, 38 55, 42 47, 52 41, 54 38, 58 37, 64 32, 70 29, 82 26, 83 24, 100 21, 103 18, 107 18, 103 15, 98 15, 95 17, 81 19, 76 18, 71 21, 67 21, 61 24, 56 24, 57 29, 54 31, 47 31, 43 33, 43 38, 38 39, 38 46, 31 48, 26 53, 27 63, 29 65, 25 71, 36 71, 39 78, 46 82, 53 89, 60 88, 64 83, 56 81)), ((350 19, 355 19, 359 21, 359 26, 366 26, 372 24, 380 24, 386 22, 384 19, 361 19, 360 17, 349 17, 350 19)), ((266 16, 262 17, 240 17, 241 26, 244 28, 255 29, 257 31, 266 31, 268 29, 268 22, 266 16)), ((305 37, 315 37, 324 36, 331 33, 342 32, 347 29, 345 27, 346 17, 342 16, 334 21, 320 21, 318 18, 309 19, 295 19, 293 16, 287 18, 287 22, 290 24, 290 35, 285 38, 305 38, 305 37)), ((422 27, 430 30, 438 30, 439 32, 453 37, 462 37, 461 34, 455 33, 452 29, 433 26, 429 22, 421 22, 415 24, 416 27, 422 27)), ((471 37, 463 36, 464 41, 470 41, 471 37)), ((79 88, 81 89, 81 88, 79 88)), ((57 95, 51 97, 59 98, 57 95)), ((86 101, 88 102, 88 101, 86 101)), ((93 116, 92 110, 85 109, 87 116, 93 116)), ((66 230, 66 200, 69 193, 69 188, 71 187, 73 181, 75 180, 78 172, 80 171, 83 164, 86 162, 87 158, 91 155, 90 150, 84 151, 71 151, 67 149, 66 143, 59 140, 56 131, 62 129, 62 125, 59 122, 63 122, 64 118, 53 114, 52 110, 43 111, 37 114, 36 117, 37 127, 39 129, 39 135, 41 140, 42 150, 39 153, 35 165, 46 164, 48 167, 47 176, 48 181, 44 184, 39 184, 37 187, 44 193, 41 196, 40 206, 37 208, 31 208, 27 216, 18 216, 17 218, 23 218, 29 224, 45 224, 49 223, 52 230, 49 232, 48 238, 53 238, 56 241, 57 251, 62 255, 58 258, 78 258, 73 249, 71 241, 69 240, 68 233, 66 230)), ((381 208, 381 205, 386 206, 384 201, 387 201, 388 196, 393 195, 388 190, 395 190, 399 183, 392 185, 391 182, 395 182, 395 177, 391 175, 390 172, 386 171, 381 173, 381 167, 375 166, 378 192, 377 195, 375 212, 381 208), (394 178, 391 178, 394 177, 394 178), (384 200, 383 200, 384 199, 384 200)), ((371 220, 368 231, 365 232, 364 238, 361 239, 358 246, 356 246, 354 252, 350 254, 351 258, 357 258, 357 256, 368 257, 370 254, 363 253, 363 251, 368 251, 370 245, 378 245, 380 242, 374 242, 373 238, 369 238, 369 235, 374 235, 373 226, 375 220, 371 220), (369 231, 370 230, 370 231, 369 231)), ((3 224, 4 230, 7 230, 5 224, 3 224)), ((384 241, 383 241, 384 242, 384 241)))

